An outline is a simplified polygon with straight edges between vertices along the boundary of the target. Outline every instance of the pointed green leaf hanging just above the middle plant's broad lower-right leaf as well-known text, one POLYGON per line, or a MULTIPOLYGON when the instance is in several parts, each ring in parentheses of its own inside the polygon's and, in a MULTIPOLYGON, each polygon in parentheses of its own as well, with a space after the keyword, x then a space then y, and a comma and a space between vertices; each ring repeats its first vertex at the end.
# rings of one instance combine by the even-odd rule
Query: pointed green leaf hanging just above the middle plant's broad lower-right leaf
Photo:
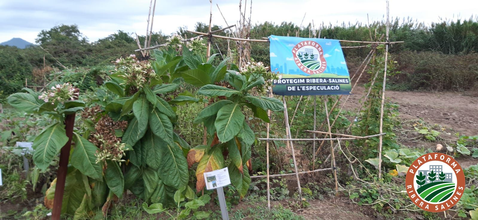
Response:
POLYGON ((152 109, 149 118, 152 133, 168 143, 173 143, 173 124, 171 120, 155 108, 152 109))

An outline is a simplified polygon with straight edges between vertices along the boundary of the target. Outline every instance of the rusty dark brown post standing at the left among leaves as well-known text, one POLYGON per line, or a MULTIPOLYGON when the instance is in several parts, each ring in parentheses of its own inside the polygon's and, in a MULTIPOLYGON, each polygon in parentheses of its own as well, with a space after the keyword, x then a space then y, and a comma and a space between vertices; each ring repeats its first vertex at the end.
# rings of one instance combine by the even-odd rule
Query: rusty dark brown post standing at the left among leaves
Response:
POLYGON ((73 137, 73 126, 75 124, 75 114, 65 117, 65 130, 68 141, 60 151, 60 162, 56 176, 56 187, 53 200, 52 220, 60 220, 61 207, 63 203, 63 194, 65 192, 66 172, 68 170, 68 159, 70 157, 71 139, 73 137))

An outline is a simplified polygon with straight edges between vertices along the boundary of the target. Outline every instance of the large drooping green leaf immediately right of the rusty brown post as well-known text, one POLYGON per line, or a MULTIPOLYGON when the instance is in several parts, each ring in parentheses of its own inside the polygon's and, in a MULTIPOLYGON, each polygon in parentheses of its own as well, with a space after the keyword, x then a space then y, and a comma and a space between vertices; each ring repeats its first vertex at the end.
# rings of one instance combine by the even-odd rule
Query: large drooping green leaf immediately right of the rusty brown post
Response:
POLYGON ((76 132, 73 133, 75 140, 75 149, 71 154, 70 163, 73 167, 80 170, 84 175, 93 179, 101 180, 103 178, 100 163, 96 163, 95 152, 98 148, 88 140, 84 139, 76 132))

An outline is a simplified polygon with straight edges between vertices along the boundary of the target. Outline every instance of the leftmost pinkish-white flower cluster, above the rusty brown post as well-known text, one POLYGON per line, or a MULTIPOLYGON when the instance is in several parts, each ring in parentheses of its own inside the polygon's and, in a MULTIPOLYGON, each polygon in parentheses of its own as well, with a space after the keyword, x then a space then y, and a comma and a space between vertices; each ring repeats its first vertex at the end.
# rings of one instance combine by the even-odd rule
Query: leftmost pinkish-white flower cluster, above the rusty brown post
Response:
POLYGON ((78 89, 73 87, 69 82, 65 82, 52 86, 50 90, 44 91, 38 96, 38 99, 44 102, 51 102, 53 105, 55 101, 75 100, 75 97, 78 97, 78 95, 78 89))

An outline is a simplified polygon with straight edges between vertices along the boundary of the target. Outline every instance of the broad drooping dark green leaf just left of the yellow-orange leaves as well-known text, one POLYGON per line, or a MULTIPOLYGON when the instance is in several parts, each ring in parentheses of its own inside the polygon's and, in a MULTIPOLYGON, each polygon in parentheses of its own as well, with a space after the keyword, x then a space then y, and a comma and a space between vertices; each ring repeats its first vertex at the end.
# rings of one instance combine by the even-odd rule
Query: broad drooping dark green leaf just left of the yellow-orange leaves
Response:
POLYGON ((159 177, 164 184, 179 188, 189 181, 186 158, 183 150, 175 143, 160 147, 163 157, 160 160, 159 177))

